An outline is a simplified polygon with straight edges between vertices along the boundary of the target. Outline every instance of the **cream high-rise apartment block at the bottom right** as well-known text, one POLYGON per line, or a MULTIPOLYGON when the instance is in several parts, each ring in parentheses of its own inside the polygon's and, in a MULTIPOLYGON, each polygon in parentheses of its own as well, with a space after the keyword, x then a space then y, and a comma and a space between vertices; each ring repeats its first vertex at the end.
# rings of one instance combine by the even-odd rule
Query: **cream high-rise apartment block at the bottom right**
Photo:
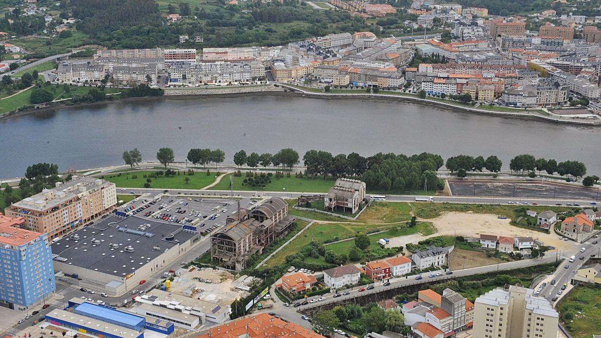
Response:
POLYGON ((556 338, 558 313, 534 290, 509 286, 476 298, 474 338, 556 338))

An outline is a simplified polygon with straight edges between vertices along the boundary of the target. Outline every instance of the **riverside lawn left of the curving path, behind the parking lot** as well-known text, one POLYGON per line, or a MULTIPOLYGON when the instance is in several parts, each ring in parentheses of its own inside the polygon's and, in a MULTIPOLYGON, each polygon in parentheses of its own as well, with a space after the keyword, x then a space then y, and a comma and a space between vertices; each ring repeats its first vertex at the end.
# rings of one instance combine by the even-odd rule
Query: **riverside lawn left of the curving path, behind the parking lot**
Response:
MULTIPOLYGON (((153 171, 135 171, 132 173, 117 173, 109 174, 104 176, 106 180, 115 183, 120 188, 144 188, 146 178, 144 174, 151 174, 153 171), (132 176, 137 176, 133 179, 132 176)), ((197 172, 192 176, 185 174, 175 176, 159 176, 159 178, 153 178, 150 182, 150 188, 161 188, 161 189, 200 189, 207 185, 215 182, 215 174, 211 173, 210 176, 204 171, 197 172), (185 179, 188 177, 190 182, 186 183, 185 179)))

